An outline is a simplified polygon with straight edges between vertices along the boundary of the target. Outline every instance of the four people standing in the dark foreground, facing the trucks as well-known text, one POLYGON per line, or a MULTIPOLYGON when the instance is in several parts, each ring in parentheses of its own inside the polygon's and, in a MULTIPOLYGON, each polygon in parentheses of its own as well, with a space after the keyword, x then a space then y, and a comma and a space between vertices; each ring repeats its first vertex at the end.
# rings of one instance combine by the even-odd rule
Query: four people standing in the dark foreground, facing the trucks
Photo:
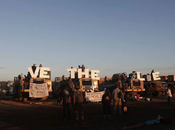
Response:
MULTIPOLYGON (((63 100, 63 119, 71 119, 71 106, 73 106, 73 115, 75 116, 75 121, 77 124, 84 124, 84 112, 83 112, 83 103, 84 103, 84 93, 80 89, 79 85, 75 85, 75 89, 70 89, 69 85, 65 85, 64 89, 61 92, 61 100, 63 100)), ((126 112, 126 97, 124 93, 119 89, 119 84, 116 84, 116 88, 113 90, 112 94, 109 89, 105 90, 104 95, 102 96, 103 104, 103 116, 104 118, 108 115, 111 117, 111 102, 113 103, 113 114, 116 114, 118 110, 121 115, 122 112, 126 112), (118 109, 117 109, 118 107, 118 109), (126 108, 122 110, 122 108, 126 108)))

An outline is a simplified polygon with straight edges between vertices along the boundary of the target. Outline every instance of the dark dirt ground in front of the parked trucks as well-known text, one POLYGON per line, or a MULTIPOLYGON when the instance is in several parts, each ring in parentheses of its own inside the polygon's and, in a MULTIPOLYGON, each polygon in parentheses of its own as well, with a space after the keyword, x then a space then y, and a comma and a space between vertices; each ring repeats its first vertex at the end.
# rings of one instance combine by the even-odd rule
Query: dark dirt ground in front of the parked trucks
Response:
POLYGON ((169 117, 171 124, 156 124, 136 130, 174 130, 175 107, 167 105, 166 97, 153 98, 152 101, 130 101, 128 112, 123 115, 112 115, 103 118, 101 103, 84 104, 85 124, 76 125, 74 119, 63 120, 62 106, 56 99, 45 102, 32 100, 28 102, 13 101, 11 97, 0 97, 1 130, 58 130, 58 129, 91 129, 121 130, 124 127, 157 119, 157 116, 169 117))

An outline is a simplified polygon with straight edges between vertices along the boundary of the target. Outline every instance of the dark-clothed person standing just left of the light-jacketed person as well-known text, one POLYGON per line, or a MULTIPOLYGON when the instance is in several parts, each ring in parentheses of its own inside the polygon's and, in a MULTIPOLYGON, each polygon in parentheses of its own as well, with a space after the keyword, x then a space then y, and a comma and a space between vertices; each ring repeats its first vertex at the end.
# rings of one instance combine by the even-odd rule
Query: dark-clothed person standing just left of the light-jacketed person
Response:
POLYGON ((111 94, 109 89, 106 89, 105 93, 102 96, 102 104, 103 104, 103 117, 105 118, 107 114, 108 117, 111 117, 111 94))

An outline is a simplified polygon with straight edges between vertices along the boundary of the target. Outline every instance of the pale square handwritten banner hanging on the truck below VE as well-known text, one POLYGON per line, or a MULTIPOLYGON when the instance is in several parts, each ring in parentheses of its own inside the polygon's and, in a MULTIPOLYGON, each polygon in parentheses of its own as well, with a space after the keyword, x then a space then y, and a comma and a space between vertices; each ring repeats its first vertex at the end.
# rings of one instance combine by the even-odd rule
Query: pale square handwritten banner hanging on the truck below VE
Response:
POLYGON ((49 96, 47 83, 36 84, 30 83, 29 97, 42 98, 49 96))

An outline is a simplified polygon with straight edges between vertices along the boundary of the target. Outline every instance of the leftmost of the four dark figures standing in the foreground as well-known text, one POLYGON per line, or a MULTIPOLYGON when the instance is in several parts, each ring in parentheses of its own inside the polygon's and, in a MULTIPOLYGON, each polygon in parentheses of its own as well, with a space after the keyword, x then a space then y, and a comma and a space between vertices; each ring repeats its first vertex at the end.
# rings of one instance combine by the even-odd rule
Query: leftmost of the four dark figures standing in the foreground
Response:
POLYGON ((63 118, 66 119, 66 110, 68 113, 68 118, 71 119, 71 111, 70 111, 70 105, 71 105, 71 95, 68 90, 68 86, 65 87, 62 94, 63 98, 63 118))

